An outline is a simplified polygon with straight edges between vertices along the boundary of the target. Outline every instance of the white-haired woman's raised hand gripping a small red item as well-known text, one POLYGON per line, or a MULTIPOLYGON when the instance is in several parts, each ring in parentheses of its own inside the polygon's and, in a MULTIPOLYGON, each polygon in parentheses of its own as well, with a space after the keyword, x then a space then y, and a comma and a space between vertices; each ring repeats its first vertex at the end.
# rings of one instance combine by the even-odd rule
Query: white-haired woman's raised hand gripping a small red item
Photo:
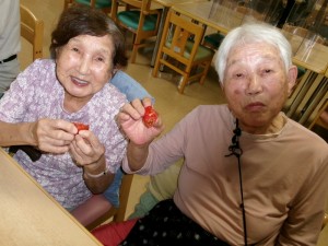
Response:
POLYGON ((152 127, 147 127, 144 125, 142 117, 147 106, 151 106, 150 98, 144 98, 142 101, 134 99, 130 104, 126 104, 117 115, 117 122, 121 128, 122 133, 137 145, 150 143, 164 129, 160 116, 157 116, 157 120, 152 127))

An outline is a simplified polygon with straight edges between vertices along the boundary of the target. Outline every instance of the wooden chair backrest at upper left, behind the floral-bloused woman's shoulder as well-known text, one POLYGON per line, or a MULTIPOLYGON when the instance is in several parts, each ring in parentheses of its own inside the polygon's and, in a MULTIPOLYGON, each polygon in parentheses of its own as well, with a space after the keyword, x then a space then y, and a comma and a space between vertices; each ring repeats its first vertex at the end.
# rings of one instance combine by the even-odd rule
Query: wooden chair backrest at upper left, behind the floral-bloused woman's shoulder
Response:
POLYGON ((44 22, 21 4, 21 36, 33 46, 33 60, 43 58, 44 22))

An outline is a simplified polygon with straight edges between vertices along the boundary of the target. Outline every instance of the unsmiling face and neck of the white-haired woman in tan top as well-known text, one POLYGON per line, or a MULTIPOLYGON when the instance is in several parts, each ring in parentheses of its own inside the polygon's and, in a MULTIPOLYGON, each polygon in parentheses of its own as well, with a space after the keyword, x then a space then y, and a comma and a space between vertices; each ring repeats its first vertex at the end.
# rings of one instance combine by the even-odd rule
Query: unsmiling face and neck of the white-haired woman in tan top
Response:
POLYGON ((266 43, 246 44, 230 51, 224 93, 241 127, 249 133, 266 133, 285 103, 297 70, 285 72, 278 48, 266 43))

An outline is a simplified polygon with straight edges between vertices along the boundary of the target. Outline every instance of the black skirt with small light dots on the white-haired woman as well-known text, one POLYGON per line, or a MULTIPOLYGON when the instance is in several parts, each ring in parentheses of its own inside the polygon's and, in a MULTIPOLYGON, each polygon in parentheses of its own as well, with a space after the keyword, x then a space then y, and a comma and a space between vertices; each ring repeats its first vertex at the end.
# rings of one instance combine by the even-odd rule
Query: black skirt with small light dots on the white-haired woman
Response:
POLYGON ((138 220, 120 246, 229 246, 184 213, 172 199, 159 202, 138 220))

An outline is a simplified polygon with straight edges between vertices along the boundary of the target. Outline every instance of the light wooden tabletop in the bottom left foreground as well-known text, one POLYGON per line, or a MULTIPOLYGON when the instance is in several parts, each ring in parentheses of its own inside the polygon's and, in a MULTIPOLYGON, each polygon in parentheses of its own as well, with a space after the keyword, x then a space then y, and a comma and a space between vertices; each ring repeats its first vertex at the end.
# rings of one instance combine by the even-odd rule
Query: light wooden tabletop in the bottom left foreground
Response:
POLYGON ((0 200, 1 245, 102 245, 2 148, 0 200))

